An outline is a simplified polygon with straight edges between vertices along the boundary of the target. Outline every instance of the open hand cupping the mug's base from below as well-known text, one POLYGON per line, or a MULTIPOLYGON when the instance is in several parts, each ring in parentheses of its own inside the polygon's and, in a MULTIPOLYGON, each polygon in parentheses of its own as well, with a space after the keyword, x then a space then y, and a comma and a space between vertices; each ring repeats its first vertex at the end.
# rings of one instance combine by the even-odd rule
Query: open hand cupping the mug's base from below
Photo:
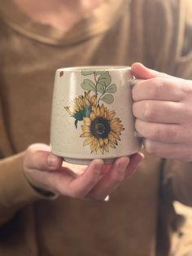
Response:
POLYGON ((96 159, 89 166, 76 166, 53 155, 46 144, 37 143, 25 152, 24 173, 34 187, 63 196, 103 201, 133 174, 142 159, 142 153, 136 153, 120 157, 112 165, 104 166, 103 160, 96 159))

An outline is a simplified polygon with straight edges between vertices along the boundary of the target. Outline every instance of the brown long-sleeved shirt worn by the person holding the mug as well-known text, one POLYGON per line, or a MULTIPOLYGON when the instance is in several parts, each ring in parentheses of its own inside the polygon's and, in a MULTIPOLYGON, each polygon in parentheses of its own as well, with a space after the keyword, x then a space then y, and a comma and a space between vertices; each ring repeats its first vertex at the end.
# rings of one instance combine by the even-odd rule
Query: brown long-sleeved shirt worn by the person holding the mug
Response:
POLYGON ((65 33, 33 22, 11 0, 0 0, 0 15, 0 255, 155 255, 159 170, 192 205, 190 163, 145 152, 109 202, 49 200, 24 178, 22 152, 49 143, 56 68, 140 61, 192 79, 191 1, 109 0, 65 33))

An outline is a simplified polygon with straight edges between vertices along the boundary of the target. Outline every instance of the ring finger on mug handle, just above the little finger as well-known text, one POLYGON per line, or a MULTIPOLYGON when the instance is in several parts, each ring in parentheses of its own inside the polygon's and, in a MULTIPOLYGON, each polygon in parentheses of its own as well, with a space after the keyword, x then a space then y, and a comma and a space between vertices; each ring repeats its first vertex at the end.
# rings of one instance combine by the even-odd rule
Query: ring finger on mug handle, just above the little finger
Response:
POLYGON ((162 143, 188 143, 191 135, 190 130, 187 130, 185 126, 146 122, 138 119, 135 121, 135 129, 142 137, 162 143))

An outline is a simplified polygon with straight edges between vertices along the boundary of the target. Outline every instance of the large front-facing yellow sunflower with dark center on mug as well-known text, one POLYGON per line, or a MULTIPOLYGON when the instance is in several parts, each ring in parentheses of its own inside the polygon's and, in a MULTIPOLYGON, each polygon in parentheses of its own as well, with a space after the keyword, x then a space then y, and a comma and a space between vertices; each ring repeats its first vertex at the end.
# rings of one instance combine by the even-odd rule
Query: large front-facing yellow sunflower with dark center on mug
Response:
POLYGON ((120 140, 121 131, 124 130, 120 118, 115 117, 113 110, 108 110, 104 105, 92 107, 89 117, 84 117, 84 125, 81 126, 85 138, 84 146, 90 145, 91 152, 104 154, 109 148, 116 148, 120 140))

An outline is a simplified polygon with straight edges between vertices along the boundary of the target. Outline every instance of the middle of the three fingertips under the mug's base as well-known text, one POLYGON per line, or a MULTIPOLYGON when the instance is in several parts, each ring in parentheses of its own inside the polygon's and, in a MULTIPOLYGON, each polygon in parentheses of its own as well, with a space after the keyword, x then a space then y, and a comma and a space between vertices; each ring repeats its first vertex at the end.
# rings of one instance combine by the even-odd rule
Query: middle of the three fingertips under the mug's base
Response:
POLYGON ((117 158, 111 165, 111 170, 103 176, 103 179, 92 189, 89 196, 98 200, 104 200, 122 182, 128 165, 129 157, 117 158))

